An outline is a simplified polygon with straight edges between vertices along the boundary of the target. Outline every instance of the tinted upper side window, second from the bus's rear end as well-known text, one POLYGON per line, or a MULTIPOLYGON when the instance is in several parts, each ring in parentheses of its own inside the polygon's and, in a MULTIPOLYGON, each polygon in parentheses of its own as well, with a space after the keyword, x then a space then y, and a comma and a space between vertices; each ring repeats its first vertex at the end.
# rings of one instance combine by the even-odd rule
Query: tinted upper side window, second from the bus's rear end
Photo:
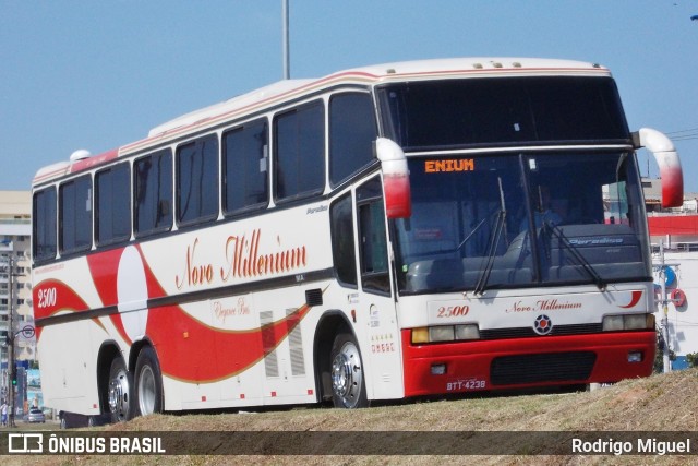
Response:
POLYGON ((92 247, 92 180, 83 176, 61 184, 60 250, 63 254, 92 247))

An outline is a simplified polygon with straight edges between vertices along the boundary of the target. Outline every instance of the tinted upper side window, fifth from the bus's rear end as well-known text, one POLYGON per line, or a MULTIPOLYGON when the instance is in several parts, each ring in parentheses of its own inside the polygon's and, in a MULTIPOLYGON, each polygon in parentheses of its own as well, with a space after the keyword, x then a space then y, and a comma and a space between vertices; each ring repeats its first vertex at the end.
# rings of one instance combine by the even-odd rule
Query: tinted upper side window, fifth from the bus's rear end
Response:
POLYGON ((218 216, 218 136, 177 148, 177 222, 189 225, 218 216))

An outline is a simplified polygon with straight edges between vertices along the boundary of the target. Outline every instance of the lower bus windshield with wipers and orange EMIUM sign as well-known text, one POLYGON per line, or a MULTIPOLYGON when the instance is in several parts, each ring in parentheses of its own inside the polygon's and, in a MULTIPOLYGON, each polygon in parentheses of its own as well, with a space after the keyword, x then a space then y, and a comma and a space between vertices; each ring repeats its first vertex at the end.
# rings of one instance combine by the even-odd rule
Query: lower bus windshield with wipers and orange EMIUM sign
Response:
POLYGON ((651 279, 630 153, 410 157, 409 169, 402 294, 651 279))

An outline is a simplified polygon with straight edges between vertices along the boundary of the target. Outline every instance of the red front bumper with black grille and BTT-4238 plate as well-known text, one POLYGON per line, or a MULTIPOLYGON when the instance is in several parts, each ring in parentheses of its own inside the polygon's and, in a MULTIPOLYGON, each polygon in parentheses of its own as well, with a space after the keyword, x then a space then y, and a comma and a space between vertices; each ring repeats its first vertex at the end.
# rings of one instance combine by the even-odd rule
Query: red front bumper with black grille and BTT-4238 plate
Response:
POLYGON ((405 396, 617 382, 652 373, 652 331, 412 344, 402 330, 405 396))

